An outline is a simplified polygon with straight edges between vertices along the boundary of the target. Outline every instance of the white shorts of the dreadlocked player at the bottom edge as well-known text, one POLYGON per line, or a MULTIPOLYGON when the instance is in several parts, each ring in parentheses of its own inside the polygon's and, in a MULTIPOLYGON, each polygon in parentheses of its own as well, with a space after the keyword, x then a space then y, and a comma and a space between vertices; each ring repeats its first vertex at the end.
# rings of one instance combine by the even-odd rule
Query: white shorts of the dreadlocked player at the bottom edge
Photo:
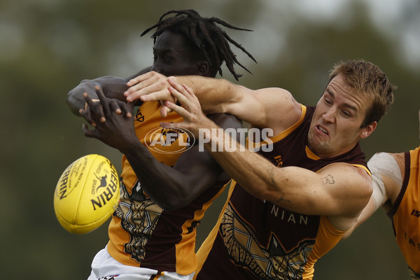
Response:
POLYGON ((109 255, 106 247, 99 251, 92 260, 92 272, 87 280, 192 280, 193 275, 181 275, 176 272, 158 272, 155 269, 123 265, 109 255))

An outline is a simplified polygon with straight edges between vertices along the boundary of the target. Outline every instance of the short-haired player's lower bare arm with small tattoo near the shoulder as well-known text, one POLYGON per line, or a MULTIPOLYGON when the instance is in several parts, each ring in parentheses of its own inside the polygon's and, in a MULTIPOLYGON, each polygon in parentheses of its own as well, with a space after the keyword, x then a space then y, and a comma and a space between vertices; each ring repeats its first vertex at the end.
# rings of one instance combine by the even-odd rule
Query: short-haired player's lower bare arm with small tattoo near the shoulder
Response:
MULTIPOLYGON (((232 141, 228 134, 224 138, 232 141)), ((302 214, 355 217, 372 193, 366 172, 344 163, 316 173, 300 167, 278 168, 257 153, 240 151, 239 145, 231 153, 211 155, 251 195, 302 214)))

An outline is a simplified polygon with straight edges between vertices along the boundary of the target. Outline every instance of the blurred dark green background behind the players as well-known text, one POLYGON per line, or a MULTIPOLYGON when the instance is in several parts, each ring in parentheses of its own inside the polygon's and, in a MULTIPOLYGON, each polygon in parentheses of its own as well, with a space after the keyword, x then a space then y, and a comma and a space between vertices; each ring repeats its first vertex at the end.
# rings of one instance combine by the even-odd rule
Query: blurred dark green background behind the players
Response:
MULTIPOLYGON (((140 37, 170 9, 194 8, 253 32, 228 31, 253 54, 239 50, 240 83, 283 87, 315 104, 328 71, 340 59, 378 64, 398 86, 395 104, 371 137, 376 151, 419 146, 420 2, 417 0, 90 1, 1 0, 1 278, 86 279, 108 240, 107 223, 71 235, 55 218, 55 184, 73 160, 87 153, 120 153, 82 132, 82 119, 64 102, 83 78, 127 77, 151 65, 152 39, 140 37)), ((232 80, 227 69, 223 72, 232 80)), ((220 197, 198 227, 198 246, 218 216, 220 197)), ((391 223, 378 211, 316 265, 314 279, 408 279, 391 223)))

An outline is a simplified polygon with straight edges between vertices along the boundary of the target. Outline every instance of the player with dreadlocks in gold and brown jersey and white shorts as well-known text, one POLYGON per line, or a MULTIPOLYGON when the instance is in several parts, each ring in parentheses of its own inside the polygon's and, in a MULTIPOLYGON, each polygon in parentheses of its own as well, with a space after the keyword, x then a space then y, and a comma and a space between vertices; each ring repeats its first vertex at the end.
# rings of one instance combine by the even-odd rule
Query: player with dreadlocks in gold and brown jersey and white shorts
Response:
MULTIPOLYGON (((224 61, 238 79, 233 65, 239 62, 230 43, 253 57, 216 24, 247 30, 202 18, 195 10, 165 13, 144 31, 157 28, 152 36, 154 59, 137 75, 156 71, 214 77, 224 61), (171 13, 175 15, 165 18, 171 13)), ((112 76, 83 80, 66 100, 73 113, 92 125, 83 126, 86 137, 123 153, 120 204, 109 225, 109 243, 94 257, 89 279, 192 279, 196 226, 229 178, 207 152, 190 145, 185 131, 160 127, 162 121, 181 122, 177 113, 164 119, 159 102, 144 102, 132 114, 134 104, 123 102, 126 83, 112 76)), ((241 127, 225 114, 209 118, 224 128, 241 127)))

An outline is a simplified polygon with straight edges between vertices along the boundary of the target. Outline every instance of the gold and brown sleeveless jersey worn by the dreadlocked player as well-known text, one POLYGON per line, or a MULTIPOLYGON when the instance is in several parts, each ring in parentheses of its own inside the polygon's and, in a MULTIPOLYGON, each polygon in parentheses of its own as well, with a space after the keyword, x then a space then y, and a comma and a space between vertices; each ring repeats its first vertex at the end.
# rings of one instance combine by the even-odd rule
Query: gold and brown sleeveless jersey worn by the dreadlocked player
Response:
MULTIPOLYGON (((165 118, 172 123, 182 120, 174 112, 165 118)), ((173 167, 188 148, 188 135, 162 128, 160 122, 159 102, 145 102, 137 111, 134 127, 153 156, 173 167)), ((195 228, 223 188, 208 188, 188 206, 165 211, 144 193, 124 155, 122 164, 120 203, 109 225, 109 254, 124 265, 193 273, 197 267, 195 228)))

